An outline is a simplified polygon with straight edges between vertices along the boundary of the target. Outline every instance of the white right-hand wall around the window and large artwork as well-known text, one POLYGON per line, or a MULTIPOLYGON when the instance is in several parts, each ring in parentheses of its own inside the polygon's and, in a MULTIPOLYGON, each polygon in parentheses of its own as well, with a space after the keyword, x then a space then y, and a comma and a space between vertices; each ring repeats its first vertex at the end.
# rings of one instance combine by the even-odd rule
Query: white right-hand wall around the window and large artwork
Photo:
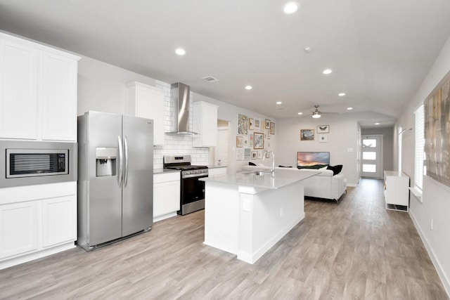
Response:
MULTIPOLYGON (((411 185, 414 183, 414 112, 448 72, 450 72, 450 39, 446 41, 435 64, 397 124, 403 129, 413 128, 412 131, 403 134, 401 153, 402 171, 410 176, 411 185)), ((411 193, 410 206, 411 218, 435 263, 447 293, 450 293, 450 188, 425 176, 423 202, 419 202, 411 193), (433 230, 430 229, 431 220, 433 230)))

